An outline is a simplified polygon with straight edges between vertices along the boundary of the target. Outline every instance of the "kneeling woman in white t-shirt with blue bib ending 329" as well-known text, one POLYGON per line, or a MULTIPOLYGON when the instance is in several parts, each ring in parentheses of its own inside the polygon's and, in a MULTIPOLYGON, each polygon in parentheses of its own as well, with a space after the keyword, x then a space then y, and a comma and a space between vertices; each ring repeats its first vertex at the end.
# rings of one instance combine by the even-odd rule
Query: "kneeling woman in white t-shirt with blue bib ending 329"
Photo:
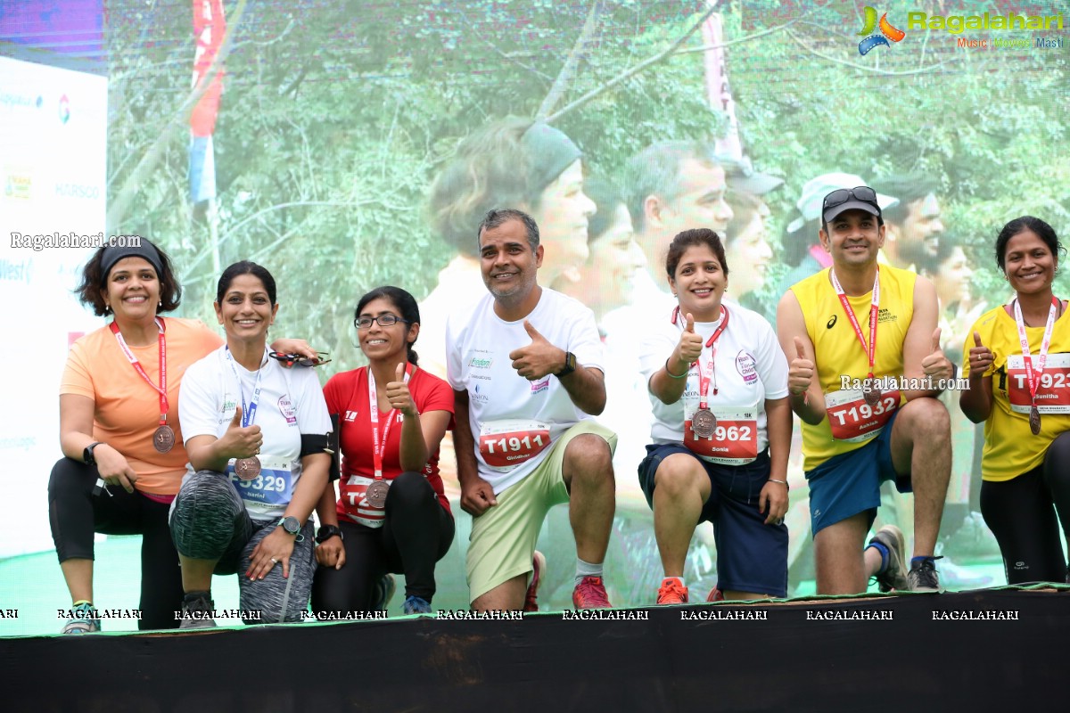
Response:
POLYGON ((316 373, 271 358, 275 280, 228 267, 215 313, 226 345, 186 370, 179 417, 188 472, 171 510, 180 629, 213 626, 212 574, 241 573, 246 623, 302 621, 316 559, 309 515, 327 483, 331 418, 316 373))

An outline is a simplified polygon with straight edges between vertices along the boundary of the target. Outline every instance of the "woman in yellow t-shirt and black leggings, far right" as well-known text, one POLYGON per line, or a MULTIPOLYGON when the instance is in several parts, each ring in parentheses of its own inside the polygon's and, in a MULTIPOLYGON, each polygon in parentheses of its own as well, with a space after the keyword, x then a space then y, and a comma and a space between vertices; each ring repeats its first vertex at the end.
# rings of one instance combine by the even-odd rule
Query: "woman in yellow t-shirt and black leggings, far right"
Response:
POLYGON ((1052 292, 1061 249, 1039 218, 1004 226, 996 263, 1015 296, 981 315, 963 348, 969 388, 959 404, 984 421, 981 513, 1008 584, 1067 576, 1058 523, 1070 522, 1070 319, 1052 292))

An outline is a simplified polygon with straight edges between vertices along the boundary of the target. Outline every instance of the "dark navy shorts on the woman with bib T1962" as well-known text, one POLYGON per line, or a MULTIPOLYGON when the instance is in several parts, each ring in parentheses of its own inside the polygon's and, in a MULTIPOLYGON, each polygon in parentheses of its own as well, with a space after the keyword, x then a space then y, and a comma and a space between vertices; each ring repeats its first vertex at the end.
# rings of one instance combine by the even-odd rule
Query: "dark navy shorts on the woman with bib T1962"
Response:
POLYGON ((674 453, 690 455, 709 476, 709 499, 702 506, 699 523, 714 524, 717 588, 786 596, 788 526, 766 525, 765 515, 758 511, 759 496, 769 479, 768 451, 747 465, 718 465, 677 444, 647 446, 646 458, 639 464, 639 485, 651 509, 654 475, 661 461, 674 453))

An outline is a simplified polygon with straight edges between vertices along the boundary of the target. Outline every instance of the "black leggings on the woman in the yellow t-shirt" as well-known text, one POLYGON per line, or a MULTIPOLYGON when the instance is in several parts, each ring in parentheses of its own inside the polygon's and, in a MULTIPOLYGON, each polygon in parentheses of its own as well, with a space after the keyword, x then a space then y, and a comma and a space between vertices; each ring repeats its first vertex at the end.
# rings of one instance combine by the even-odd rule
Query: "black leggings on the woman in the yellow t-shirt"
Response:
POLYGON ((1007 584, 1066 582, 1063 539, 1070 524, 1070 432, 1052 441, 1044 462, 1033 470, 1012 480, 981 483, 981 514, 999 543, 1007 584))

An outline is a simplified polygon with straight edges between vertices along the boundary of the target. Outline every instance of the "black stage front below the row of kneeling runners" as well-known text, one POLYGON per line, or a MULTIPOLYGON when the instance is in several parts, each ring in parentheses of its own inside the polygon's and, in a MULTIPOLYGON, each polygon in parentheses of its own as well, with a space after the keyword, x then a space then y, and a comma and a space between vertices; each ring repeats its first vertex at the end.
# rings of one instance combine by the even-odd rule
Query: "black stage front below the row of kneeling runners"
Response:
POLYGON ((5 638, 0 691, 11 713, 1060 710, 1068 634, 1065 587, 441 614, 5 638))

